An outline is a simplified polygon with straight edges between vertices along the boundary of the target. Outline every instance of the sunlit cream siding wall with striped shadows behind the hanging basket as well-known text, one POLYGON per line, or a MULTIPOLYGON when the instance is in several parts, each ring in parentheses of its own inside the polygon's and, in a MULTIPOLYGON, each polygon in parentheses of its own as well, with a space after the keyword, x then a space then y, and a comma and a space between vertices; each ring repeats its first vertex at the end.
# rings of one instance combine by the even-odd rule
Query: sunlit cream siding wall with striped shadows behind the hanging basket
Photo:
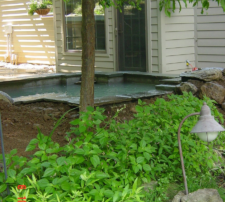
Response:
POLYGON ((29 16, 29 3, 29 0, 0 1, 0 60, 7 53, 5 25, 12 25, 12 53, 18 55, 18 63, 55 64, 53 16, 29 16))

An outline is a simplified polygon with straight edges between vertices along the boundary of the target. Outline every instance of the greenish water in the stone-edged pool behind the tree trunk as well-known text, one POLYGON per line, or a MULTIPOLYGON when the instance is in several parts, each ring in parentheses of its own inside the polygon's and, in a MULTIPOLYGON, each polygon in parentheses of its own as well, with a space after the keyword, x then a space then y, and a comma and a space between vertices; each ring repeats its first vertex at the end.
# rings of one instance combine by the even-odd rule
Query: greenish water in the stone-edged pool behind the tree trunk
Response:
MULTIPOLYGON (((155 90, 154 84, 147 83, 115 83, 115 84, 95 84, 95 98, 107 96, 134 94, 155 90)), ((41 86, 38 88, 7 89, 5 90, 12 98, 44 93, 62 93, 68 96, 79 97, 80 85, 57 85, 41 86)))

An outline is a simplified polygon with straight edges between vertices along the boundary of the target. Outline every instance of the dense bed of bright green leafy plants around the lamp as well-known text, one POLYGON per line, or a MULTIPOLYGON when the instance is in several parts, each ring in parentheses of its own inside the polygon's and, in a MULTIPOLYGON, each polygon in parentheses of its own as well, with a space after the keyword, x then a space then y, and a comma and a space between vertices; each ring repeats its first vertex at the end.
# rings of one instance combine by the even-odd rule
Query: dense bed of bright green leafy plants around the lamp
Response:
MULTIPOLYGON (((5 181, 4 173, 0 173, 0 201, 17 202, 19 197, 26 197, 27 202, 141 202, 151 201, 143 190, 145 183, 158 181, 158 193, 165 192, 162 187, 169 182, 182 183, 179 123, 186 115, 199 112, 204 101, 217 121, 222 123, 223 117, 215 101, 206 97, 199 100, 184 93, 168 98, 170 101, 160 98, 150 105, 139 100, 134 119, 123 123, 116 119, 123 109, 106 121, 104 109, 88 107, 79 119, 70 122, 68 143, 60 147, 51 137, 64 114, 50 135, 39 131, 30 141, 26 151, 38 149, 32 158, 17 156, 16 149, 6 155, 8 179, 5 181), (18 185, 26 185, 26 189, 17 189, 18 185)), ((200 141, 189 133, 197 120, 197 116, 190 117, 181 130, 186 173, 202 176, 211 169, 220 173, 215 163, 221 158, 214 148, 224 150, 224 134, 213 143, 200 141)), ((152 201, 163 201, 167 196, 156 198, 152 201)))

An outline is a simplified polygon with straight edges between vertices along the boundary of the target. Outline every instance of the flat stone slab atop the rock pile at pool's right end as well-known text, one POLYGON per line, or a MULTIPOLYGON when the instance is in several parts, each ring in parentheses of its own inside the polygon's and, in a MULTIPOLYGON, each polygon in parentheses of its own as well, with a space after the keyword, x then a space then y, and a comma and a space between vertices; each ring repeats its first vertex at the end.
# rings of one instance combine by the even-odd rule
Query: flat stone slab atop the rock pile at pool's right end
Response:
MULTIPOLYGON (((203 81, 216 81, 223 77, 222 70, 217 68, 206 68, 203 70, 187 72, 180 74, 181 77, 187 79, 200 79, 203 81)), ((183 79, 182 79, 183 80, 183 79)))

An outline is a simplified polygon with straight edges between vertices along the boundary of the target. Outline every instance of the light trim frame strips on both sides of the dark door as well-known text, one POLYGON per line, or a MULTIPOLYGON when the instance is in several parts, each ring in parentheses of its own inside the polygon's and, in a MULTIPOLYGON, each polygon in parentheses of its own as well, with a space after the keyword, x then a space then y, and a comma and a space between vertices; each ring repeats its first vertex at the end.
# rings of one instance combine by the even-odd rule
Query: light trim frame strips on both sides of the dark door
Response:
MULTIPOLYGON (((151 49, 151 1, 145 0, 145 42, 146 42, 146 71, 147 73, 152 73, 152 49, 151 49), (149 12, 150 11, 150 12, 149 12)), ((115 21, 115 70, 119 71, 119 37, 118 37, 118 14, 117 9, 114 8, 114 21, 115 21)))

